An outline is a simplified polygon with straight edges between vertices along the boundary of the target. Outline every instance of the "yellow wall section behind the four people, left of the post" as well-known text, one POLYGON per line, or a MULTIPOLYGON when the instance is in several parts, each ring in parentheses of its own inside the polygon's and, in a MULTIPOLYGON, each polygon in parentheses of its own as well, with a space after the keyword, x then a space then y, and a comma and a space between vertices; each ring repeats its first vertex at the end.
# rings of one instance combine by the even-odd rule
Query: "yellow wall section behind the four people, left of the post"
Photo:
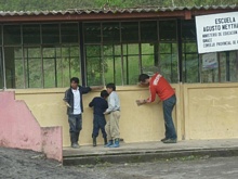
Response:
MULTIPOLYGON (((63 102, 65 90, 16 90, 16 98, 28 104, 42 127, 63 126, 63 145, 68 146, 70 145, 69 128, 66 106, 63 102)), ((177 89, 177 91, 180 90, 177 89)), ((144 106, 135 104, 136 99, 149 97, 148 88, 118 87, 117 92, 121 101, 120 137, 123 138, 124 142, 159 141, 163 138, 163 114, 158 99, 155 103, 144 106)), ((83 94, 84 113, 82 115, 82 131, 79 138, 81 145, 92 143, 93 111, 89 107, 89 103, 97 95, 100 95, 100 91, 83 94)), ((173 112, 174 119, 178 118, 176 117, 178 106, 177 104, 173 112)), ((176 126, 180 125, 176 124, 176 126)), ((101 133, 97 141, 103 143, 101 133)))

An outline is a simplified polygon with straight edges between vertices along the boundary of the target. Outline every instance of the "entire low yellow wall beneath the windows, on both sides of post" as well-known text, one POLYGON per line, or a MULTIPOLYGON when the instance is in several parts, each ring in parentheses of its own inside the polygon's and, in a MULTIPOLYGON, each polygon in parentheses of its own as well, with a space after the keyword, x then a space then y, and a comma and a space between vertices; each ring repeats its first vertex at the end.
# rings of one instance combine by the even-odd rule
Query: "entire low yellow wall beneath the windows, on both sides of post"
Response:
MULTIPOLYGON (((238 84, 172 85, 177 103, 173 119, 178 140, 238 138, 238 84)), ((42 127, 63 126, 63 143, 69 145, 66 89, 15 90, 16 99, 24 100, 42 127)), ((158 99, 153 104, 137 106, 136 99, 149 95, 147 88, 118 87, 121 100, 120 132, 124 142, 159 141, 163 138, 162 105, 158 99)), ((83 95, 84 113, 80 144, 92 143, 93 113, 89 102, 100 91, 83 95)), ((98 142, 102 143, 100 133, 98 142)))

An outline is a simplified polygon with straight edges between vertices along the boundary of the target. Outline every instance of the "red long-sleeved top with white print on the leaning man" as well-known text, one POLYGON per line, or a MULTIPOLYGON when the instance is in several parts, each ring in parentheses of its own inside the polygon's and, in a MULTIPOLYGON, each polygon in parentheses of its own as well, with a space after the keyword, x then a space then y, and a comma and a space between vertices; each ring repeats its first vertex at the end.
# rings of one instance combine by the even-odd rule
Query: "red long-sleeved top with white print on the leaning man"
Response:
POLYGON ((154 102, 156 94, 164 101, 175 93, 170 84, 160 74, 155 74, 151 77, 149 81, 149 91, 150 97, 147 99, 147 102, 154 102))

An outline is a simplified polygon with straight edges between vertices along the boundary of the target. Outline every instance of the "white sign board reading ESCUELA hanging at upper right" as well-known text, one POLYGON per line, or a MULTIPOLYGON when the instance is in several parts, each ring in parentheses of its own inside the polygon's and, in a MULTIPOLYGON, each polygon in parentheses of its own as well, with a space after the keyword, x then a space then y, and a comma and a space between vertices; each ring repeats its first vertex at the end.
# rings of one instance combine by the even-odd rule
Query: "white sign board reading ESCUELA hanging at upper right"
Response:
POLYGON ((238 50, 238 12, 196 16, 198 53, 238 50))

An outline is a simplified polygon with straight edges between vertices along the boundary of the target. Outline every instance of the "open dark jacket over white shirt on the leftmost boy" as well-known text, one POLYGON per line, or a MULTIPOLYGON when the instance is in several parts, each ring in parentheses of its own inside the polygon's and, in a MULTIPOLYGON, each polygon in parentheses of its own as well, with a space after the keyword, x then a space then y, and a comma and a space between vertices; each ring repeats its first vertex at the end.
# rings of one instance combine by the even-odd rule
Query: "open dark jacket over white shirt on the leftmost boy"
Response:
MULTIPOLYGON (((83 105, 82 105, 82 94, 85 94, 90 92, 92 89, 90 87, 81 87, 79 86, 79 93, 80 93, 80 106, 81 111, 83 113, 83 105)), ((71 91, 71 88, 67 89, 65 91, 65 98, 64 101, 67 102, 71 107, 67 107, 67 114, 71 115, 74 114, 74 93, 71 91)))

